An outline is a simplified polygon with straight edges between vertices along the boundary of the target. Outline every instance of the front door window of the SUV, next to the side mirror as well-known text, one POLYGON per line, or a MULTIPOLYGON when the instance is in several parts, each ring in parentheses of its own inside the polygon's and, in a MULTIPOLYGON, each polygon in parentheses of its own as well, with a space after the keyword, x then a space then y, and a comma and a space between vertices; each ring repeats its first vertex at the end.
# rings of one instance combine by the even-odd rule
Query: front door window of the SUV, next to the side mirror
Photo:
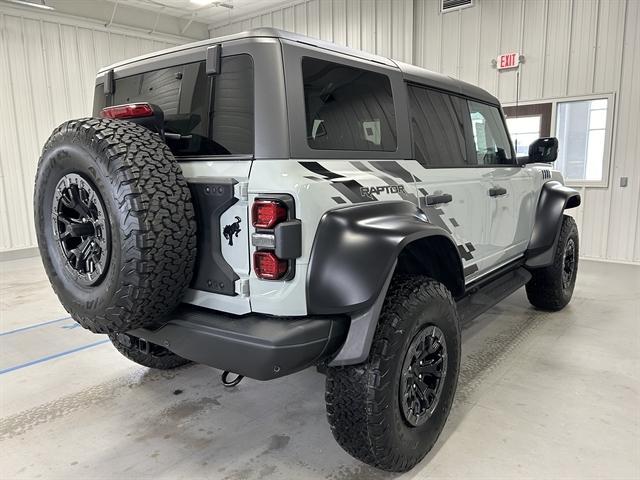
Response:
POLYGON ((469 101, 473 142, 478 165, 512 165, 511 144, 496 107, 469 101))

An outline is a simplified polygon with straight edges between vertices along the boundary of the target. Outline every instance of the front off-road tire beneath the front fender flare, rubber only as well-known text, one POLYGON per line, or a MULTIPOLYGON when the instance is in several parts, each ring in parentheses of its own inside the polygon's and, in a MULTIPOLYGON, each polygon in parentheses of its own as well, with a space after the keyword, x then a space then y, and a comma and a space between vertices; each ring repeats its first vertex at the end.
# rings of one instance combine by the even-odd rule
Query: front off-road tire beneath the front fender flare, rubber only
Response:
POLYGON ((526 285, 527 298, 534 307, 557 311, 571 301, 578 274, 578 253, 578 227, 572 217, 564 215, 553 263, 548 267, 532 269, 531 280, 526 285), (569 281, 563 282, 567 250, 571 243, 574 264, 569 281))

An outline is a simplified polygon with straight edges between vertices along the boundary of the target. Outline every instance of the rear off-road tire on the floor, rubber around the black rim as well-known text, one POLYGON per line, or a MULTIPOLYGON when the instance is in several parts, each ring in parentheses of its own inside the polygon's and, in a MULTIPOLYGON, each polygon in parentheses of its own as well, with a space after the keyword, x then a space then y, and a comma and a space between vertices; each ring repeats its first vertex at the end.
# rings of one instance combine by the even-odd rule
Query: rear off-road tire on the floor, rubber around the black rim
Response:
POLYGON ((404 472, 431 450, 449 415, 460 366, 460 327, 451 293, 428 277, 394 278, 366 362, 329 368, 327 415, 340 446, 382 470, 404 472), (403 415, 400 385, 412 340, 425 328, 443 333, 448 358, 435 410, 412 426, 403 415))

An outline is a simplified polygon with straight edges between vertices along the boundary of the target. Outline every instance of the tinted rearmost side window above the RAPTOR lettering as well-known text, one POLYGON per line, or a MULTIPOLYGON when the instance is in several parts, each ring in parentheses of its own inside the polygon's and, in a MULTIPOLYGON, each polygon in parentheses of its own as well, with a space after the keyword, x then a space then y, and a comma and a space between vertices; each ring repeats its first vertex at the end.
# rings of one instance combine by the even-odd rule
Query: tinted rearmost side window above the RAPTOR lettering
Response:
POLYGON ((316 150, 396 150, 396 119, 386 75, 302 59, 307 143, 316 150))

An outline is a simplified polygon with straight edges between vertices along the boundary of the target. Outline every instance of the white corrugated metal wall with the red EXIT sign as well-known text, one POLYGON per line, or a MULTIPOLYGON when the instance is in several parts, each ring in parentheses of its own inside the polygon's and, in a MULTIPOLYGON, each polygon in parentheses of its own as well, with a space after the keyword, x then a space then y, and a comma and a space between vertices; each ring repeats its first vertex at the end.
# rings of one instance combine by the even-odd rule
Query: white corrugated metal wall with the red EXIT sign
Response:
POLYGON ((444 72, 502 102, 516 100, 516 74, 498 73, 491 60, 511 51, 526 57, 519 101, 615 93, 609 186, 581 189, 575 214, 584 256, 640 262, 639 0, 475 0, 446 14, 440 0, 312 0, 214 26, 211 34, 258 26, 444 72), (618 186, 621 176, 628 187, 618 186))

